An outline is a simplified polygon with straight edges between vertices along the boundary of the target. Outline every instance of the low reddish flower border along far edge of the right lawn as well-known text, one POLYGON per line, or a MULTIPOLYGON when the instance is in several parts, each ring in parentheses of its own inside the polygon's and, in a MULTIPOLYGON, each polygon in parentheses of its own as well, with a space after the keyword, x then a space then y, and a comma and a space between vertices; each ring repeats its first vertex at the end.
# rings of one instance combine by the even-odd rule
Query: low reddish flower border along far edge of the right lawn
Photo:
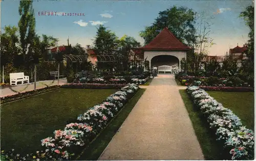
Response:
POLYGON ((241 91, 248 92, 254 91, 252 87, 225 87, 225 86, 199 86, 206 91, 241 91))

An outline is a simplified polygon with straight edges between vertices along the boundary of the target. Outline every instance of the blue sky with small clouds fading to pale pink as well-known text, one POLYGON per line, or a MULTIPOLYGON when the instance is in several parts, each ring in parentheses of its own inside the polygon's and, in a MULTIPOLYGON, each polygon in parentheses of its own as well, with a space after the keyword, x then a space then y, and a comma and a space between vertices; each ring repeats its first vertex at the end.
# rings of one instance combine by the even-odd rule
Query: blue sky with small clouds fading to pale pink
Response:
MULTIPOLYGON (((174 5, 184 6, 198 13, 205 12, 207 17, 213 17, 209 20, 213 24, 210 37, 215 44, 207 49, 208 55, 224 55, 229 48, 234 48, 237 44, 241 47, 248 40, 249 28, 239 14, 252 4, 252 1, 52 0, 34 1, 33 8, 37 34, 52 35, 59 39, 59 45, 67 45, 69 37, 72 45, 79 43, 86 47, 92 45, 99 24, 108 27, 118 37, 133 36, 143 45, 144 40, 139 32, 151 26, 160 11, 174 5), (45 12, 47 15, 44 15, 45 12), (53 15, 48 15, 48 12, 53 15)), ((19 1, 2 0, 2 30, 4 26, 17 26, 20 18, 18 6, 19 1)))

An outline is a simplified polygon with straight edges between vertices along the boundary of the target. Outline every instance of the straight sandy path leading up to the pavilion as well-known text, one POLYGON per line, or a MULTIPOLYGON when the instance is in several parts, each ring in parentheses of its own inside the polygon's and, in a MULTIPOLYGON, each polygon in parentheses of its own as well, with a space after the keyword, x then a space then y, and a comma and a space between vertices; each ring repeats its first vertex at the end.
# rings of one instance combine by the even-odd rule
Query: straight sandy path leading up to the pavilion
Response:
POLYGON ((174 76, 159 75, 98 160, 204 159, 174 76))

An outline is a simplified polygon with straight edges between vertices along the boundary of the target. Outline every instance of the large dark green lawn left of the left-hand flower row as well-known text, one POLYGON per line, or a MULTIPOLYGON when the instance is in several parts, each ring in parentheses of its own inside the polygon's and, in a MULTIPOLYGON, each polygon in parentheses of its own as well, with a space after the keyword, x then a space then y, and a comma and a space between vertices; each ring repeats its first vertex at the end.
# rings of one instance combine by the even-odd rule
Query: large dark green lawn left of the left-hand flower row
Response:
POLYGON ((57 89, 1 106, 1 149, 27 154, 116 89, 57 89))

